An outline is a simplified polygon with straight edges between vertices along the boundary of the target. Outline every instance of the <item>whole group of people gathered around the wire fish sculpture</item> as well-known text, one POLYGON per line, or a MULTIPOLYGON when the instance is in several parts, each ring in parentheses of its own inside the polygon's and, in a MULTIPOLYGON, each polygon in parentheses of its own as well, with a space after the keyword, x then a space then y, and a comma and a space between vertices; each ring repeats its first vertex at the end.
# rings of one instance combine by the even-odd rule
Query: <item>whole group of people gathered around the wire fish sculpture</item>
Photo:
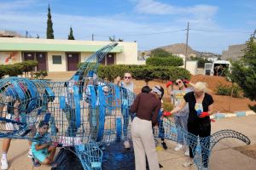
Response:
MULTIPOLYGON (((186 139, 185 132, 189 132, 204 138, 211 134, 211 120, 213 99, 210 94, 207 94, 207 84, 205 82, 196 82, 195 84, 184 80, 177 79, 175 82, 166 83, 167 94, 170 95, 170 102, 174 104, 172 111, 164 111, 163 96, 165 90, 160 85, 155 85, 150 88, 144 86, 140 94, 137 94, 136 99, 132 101, 135 84, 132 82, 130 72, 125 72, 123 80, 117 77, 117 84, 122 90, 122 94, 126 95, 122 99, 121 114, 123 116, 123 134, 125 138, 124 146, 126 149, 131 148, 128 139, 127 131, 131 121, 131 139, 135 153, 136 169, 146 169, 146 160, 150 170, 160 169, 158 163, 158 156, 155 149, 154 127, 160 129, 160 139, 162 147, 167 150, 167 144, 164 139, 165 129, 163 126, 163 117, 173 115, 174 122, 177 127, 177 146, 174 150, 183 150, 185 156, 189 156, 188 161, 183 164, 183 167, 193 165, 193 150, 196 144, 191 144, 189 139, 186 139), (173 85, 176 89, 173 90, 173 85), (187 87, 189 86, 189 88, 187 87), (184 131, 182 131, 182 129, 184 131)), ((103 88, 103 92, 108 93, 108 87, 103 88), (105 89, 106 88, 106 89, 105 89)), ((13 114, 19 111, 19 103, 14 103, 13 114)), ((10 112, 10 111, 6 111, 10 112)), ((48 122, 39 122, 37 131, 34 135, 44 139, 44 142, 29 143, 29 156, 32 157, 34 166, 38 167, 40 164, 50 164, 55 166, 53 161, 55 155, 55 146, 51 144, 48 138, 48 122)), ((1 169, 8 169, 7 152, 9 150, 10 139, 3 139, 3 154, 1 159, 1 169)), ((210 144, 206 144, 208 147, 210 144)), ((201 153, 203 159, 203 166, 208 167, 207 153, 201 153)))

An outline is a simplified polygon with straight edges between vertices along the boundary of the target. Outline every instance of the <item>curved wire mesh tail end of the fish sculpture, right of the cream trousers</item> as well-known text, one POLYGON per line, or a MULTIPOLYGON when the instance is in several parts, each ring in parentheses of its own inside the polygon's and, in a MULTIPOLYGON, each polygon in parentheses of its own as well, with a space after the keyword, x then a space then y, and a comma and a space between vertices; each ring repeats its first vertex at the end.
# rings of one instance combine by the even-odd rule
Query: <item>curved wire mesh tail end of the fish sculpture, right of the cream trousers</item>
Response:
POLYGON ((208 169, 209 159, 212 153, 212 148, 221 139, 234 138, 239 139, 246 144, 250 144, 250 139, 242 133, 236 132, 230 129, 224 129, 213 133, 210 136, 201 138, 189 133, 183 127, 177 126, 169 118, 159 120, 159 126, 154 127, 154 137, 160 139, 169 139, 172 141, 178 141, 178 133, 183 137, 184 144, 189 146, 192 150, 193 160, 198 169, 208 169))

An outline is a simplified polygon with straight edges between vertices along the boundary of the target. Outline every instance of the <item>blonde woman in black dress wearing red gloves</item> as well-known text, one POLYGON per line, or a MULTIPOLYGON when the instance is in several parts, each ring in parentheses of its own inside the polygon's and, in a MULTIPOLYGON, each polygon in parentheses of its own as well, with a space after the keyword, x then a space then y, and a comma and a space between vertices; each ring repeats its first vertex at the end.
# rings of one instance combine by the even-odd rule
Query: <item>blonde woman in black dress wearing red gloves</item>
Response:
MULTIPOLYGON (((196 82, 194 92, 185 94, 183 100, 177 107, 170 112, 165 112, 164 116, 170 116, 172 113, 181 111, 185 105, 189 104, 189 119, 188 119, 188 132, 199 136, 200 143, 205 148, 201 150, 203 167, 208 167, 208 154, 207 150, 210 147, 210 140, 205 139, 211 135, 211 120, 210 115, 213 111, 212 95, 206 93, 207 84, 205 82, 196 82)), ((189 139, 189 160, 183 164, 183 167, 189 167, 193 164, 195 153, 193 150, 196 148, 195 139, 189 139)))

